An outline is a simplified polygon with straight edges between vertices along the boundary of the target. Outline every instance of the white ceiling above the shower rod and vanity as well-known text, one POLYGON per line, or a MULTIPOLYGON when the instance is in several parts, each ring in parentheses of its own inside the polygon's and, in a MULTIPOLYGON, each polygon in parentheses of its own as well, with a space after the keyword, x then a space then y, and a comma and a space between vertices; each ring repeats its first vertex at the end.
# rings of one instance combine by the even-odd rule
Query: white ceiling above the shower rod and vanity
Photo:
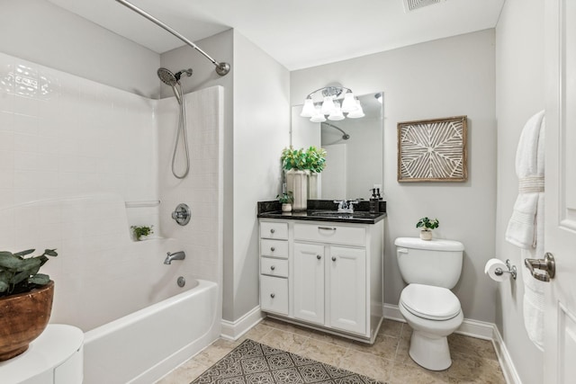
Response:
MULTIPOLYGON (((115 0, 49 1, 157 53, 184 45, 115 0)), ((409 13, 402 0, 129 1, 192 41, 235 28, 295 70, 493 28, 505 0, 446 0, 409 13)))

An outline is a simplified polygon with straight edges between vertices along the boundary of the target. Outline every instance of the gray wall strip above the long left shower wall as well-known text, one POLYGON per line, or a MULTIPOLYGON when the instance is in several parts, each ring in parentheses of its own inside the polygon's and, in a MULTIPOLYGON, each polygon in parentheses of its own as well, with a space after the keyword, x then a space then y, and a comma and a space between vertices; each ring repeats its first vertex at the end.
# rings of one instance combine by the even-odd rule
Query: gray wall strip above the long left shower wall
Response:
POLYGON ((157 98, 160 56, 45 0, 0 0, 0 51, 157 98))

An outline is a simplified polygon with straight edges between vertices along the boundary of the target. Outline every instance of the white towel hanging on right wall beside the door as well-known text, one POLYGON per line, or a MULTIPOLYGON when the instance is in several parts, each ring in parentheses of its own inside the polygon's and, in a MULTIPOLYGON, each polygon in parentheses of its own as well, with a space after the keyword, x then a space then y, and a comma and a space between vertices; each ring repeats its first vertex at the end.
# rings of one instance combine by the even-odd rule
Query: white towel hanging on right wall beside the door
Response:
MULTIPOLYGON (((518 198, 506 230, 506 240, 521 248, 522 260, 544 256, 545 113, 526 123, 516 153, 518 198)), ((545 283, 522 266, 524 326, 530 340, 544 351, 545 283)))

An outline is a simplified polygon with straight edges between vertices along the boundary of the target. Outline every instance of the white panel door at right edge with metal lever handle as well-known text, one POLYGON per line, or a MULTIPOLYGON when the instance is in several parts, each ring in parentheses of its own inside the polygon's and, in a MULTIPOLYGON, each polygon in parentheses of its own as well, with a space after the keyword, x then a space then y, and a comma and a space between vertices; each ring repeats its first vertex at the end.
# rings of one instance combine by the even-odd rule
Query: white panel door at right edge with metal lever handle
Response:
MULTIPOLYGON (((545 3, 545 382, 576 380, 576 1, 545 3)), ((538 255, 542 257, 542 255, 538 255)))

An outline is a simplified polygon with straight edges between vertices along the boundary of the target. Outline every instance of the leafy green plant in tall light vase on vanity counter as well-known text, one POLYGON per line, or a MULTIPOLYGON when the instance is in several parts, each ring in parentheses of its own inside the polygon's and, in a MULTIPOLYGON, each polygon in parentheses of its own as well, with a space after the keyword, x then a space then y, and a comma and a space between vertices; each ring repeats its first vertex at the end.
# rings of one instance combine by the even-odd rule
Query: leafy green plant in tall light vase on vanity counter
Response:
POLYGON ((286 173, 286 187, 293 192, 293 210, 308 208, 308 171, 306 152, 303 148, 285 147, 282 150, 282 167, 286 173))

